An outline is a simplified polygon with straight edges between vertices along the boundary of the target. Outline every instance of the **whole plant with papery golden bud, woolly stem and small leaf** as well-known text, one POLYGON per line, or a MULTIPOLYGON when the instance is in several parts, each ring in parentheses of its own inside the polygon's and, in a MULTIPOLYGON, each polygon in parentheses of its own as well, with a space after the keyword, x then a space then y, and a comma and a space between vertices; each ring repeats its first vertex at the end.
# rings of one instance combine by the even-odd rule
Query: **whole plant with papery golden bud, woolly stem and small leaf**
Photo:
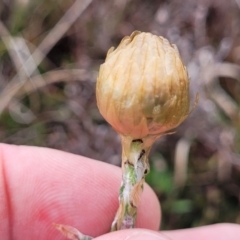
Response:
MULTIPOLYGON (((124 37, 100 67, 96 96, 100 113, 122 142, 122 184, 111 230, 134 228, 150 149, 189 115, 189 78, 177 47, 151 33, 124 37)), ((76 231, 75 239, 91 239, 57 227, 76 231)))

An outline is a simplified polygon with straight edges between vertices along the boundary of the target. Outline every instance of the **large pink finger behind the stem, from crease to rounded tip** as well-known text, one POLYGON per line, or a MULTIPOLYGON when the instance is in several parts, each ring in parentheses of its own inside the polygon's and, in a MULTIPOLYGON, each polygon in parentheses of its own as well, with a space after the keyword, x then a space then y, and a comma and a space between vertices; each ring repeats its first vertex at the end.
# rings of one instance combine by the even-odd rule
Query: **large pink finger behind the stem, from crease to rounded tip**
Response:
MULTIPOLYGON (((26 239, 58 239, 52 222, 92 236, 109 231, 119 204, 120 168, 59 150, 6 144, 0 148, 16 234, 25 226, 26 239), (41 237, 35 233, 40 230, 41 237)), ((157 230, 159 222, 158 199, 146 184, 136 225, 157 230)))

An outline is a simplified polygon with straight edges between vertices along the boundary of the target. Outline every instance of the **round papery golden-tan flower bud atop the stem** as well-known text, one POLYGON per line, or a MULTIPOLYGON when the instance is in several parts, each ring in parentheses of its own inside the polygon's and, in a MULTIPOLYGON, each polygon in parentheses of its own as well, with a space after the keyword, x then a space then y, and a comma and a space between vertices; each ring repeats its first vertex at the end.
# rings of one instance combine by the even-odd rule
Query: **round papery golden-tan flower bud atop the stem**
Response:
POLYGON ((110 48, 97 80, 101 114, 121 135, 161 136, 189 114, 189 79, 177 47, 135 31, 110 48))

